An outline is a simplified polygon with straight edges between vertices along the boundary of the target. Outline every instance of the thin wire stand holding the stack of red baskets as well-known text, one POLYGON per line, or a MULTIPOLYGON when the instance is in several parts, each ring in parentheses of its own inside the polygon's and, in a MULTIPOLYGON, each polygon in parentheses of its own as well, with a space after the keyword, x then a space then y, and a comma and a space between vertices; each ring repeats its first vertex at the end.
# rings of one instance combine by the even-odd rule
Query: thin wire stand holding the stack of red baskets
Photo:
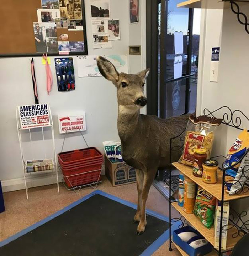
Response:
MULTIPOLYGON (((89 147, 88 144, 87 144, 87 142, 86 142, 86 140, 85 140, 85 137, 84 137, 84 135, 82 134, 82 132, 81 132, 80 129, 79 129, 79 132, 80 132, 81 136, 83 137, 86 146, 89 147)), ((65 132, 65 136, 64 136, 64 140, 63 140, 61 152, 63 152, 63 147, 64 147, 64 143, 65 143, 66 137, 67 137, 67 130, 66 130, 66 132, 65 132)), ((60 170, 62 171, 61 166, 60 166, 59 163, 58 163, 58 166, 59 166, 60 170)), ((78 174, 73 174, 73 175, 68 175, 68 176, 64 176, 63 173, 62 173, 62 176, 63 176, 63 178, 64 178, 64 179, 62 179, 62 183, 63 183, 63 185, 65 186, 65 188, 66 188, 67 190, 73 190, 75 193, 79 193, 80 190, 81 190, 81 188, 83 188, 83 187, 88 187, 88 186, 90 186, 92 189, 96 189, 97 185, 102 182, 102 181, 100 180, 102 170, 103 170, 103 168, 98 169, 98 170, 92 170, 92 171, 87 171, 87 172, 81 172, 81 173, 78 173, 78 174), (97 180, 97 181, 91 182, 91 183, 88 183, 88 184, 83 184, 83 185, 80 185, 80 186, 73 186, 73 185, 71 184, 71 181, 70 181, 69 177, 73 177, 73 176, 77 176, 77 175, 81 175, 81 174, 87 174, 87 173, 96 172, 96 171, 100 171, 100 174, 99 174, 99 177, 98 177, 98 180, 97 180), (71 185, 71 187, 68 187, 68 186, 66 185, 65 179, 67 179, 67 181, 69 182, 69 184, 71 185)))

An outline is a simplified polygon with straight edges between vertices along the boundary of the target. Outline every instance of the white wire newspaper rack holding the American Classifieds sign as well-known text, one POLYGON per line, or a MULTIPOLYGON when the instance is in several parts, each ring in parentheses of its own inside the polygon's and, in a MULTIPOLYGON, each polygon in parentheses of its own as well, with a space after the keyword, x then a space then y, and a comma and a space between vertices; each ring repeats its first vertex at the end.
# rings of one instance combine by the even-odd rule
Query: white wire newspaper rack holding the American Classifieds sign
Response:
MULTIPOLYGON (((28 181, 27 179, 29 179, 31 181, 31 187, 33 187, 32 185, 32 179, 34 179, 35 177, 32 176, 37 176, 39 174, 53 174, 53 176, 55 175, 55 183, 57 184, 57 190, 58 190, 58 194, 60 194, 60 190, 59 190, 59 179, 58 179, 58 169, 57 169, 57 154, 55 151, 55 142, 54 142, 54 126, 53 126, 53 119, 52 119, 52 115, 51 115, 51 110, 49 107, 49 104, 47 104, 48 106, 48 115, 49 115, 49 120, 50 120, 50 124, 47 125, 46 127, 51 127, 51 134, 52 134, 52 146, 53 146, 53 156, 52 156, 52 160, 53 160, 53 165, 54 168, 53 169, 49 169, 49 170, 43 170, 43 171, 36 171, 36 172, 27 172, 26 171, 26 164, 28 159, 25 159, 24 156, 24 151, 23 151, 23 142, 22 142, 22 132, 24 131, 21 128, 21 121, 20 121, 20 117, 18 114, 18 106, 16 106, 16 124, 17 124, 17 131, 18 131, 18 139, 19 139, 19 145, 20 145, 20 152, 21 152, 21 159, 22 159, 22 167, 23 167, 23 177, 24 177, 24 182, 25 182, 25 190, 26 190, 26 197, 28 199, 28 190, 29 190, 29 186, 28 186, 28 181)), ((36 160, 34 159, 34 150, 35 147, 33 146, 33 141, 32 141, 32 136, 31 136, 31 129, 39 129, 42 132, 42 144, 41 147, 44 147, 44 160, 47 160, 47 152, 46 152, 46 147, 45 147, 45 138, 44 138, 44 127, 32 127, 28 130, 29 132, 29 139, 30 139, 30 148, 31 148, 31 152, 32 152, 32 160, 36 160)), ((49 158, 51 159, 51 158, 49 158)))

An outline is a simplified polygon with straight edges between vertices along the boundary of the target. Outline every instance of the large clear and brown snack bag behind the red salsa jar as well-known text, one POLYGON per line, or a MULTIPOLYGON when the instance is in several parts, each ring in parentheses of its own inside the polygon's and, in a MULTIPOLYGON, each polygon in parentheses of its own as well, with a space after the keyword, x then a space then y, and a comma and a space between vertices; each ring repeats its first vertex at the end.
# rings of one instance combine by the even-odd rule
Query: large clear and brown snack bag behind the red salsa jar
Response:
POLYGON ((195 162, 194 150, 204 147, 207 159, 210 158, 213 147, 214 130, 222 119, 214 117, 191 116, 187 123, 183 153, 178 162, 192 166, 195 162))

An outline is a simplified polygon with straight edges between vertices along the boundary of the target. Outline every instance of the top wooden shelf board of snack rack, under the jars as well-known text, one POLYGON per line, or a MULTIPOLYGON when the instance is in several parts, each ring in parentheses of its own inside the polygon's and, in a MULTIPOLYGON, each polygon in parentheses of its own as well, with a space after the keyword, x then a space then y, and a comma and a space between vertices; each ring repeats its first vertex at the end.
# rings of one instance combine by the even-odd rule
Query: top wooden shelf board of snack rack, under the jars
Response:
MULTIPOLYGON (((191 166, 186 166, 184 164, 180 163, 173 163, 173 166, 176 167, 179 171, 181 171, 184 175, 189 177, 191 180, 193 180, 196 184, 201 186, 203 189, 205 189, 208 193, 216 197, 219 201, 221 201, 221 194, 222 194, 222 171, 218 170, 218 182, 215 184, 207 184, 202 181, 201 178, 195 177, 192 172, 191 166)), ((224 193, 224 201, 231 201, 235 199, 240 199, 244 197, 249 197, 249 191, 246 193, 241 193, 239 195, 228 195, 225 191, 224 193)))

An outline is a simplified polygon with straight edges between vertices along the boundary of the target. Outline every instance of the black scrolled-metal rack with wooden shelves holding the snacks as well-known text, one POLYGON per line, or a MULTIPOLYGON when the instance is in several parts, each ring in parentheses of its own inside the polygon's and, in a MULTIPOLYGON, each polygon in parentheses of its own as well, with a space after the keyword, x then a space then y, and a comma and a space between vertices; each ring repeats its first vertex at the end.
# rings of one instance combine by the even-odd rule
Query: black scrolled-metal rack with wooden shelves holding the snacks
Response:
MULTIPOLYGON (((223 121, 222 124, 233 127, 234 129, 243 130, 242 129, 242 120, 246 122, 249 121, 249 118, 240 110, 232 111, 227 106, 222 106, 214 111, 209 111, 208 109, 204 109, 205 116, 222 116, 223 121)), ((176 167, 179 171, 181 171, 184 175, 192 179, 198 186, 201 186, 203 189, 207 190, 210 194, 216 197, 217 200, 221 202, 221 216, 220 216, 220 224, 219 224, 219 246, 218 248, 214 248, 211 254, 208 255, 219 255, 223 256, 224 253, 229 252, 233 249, 233 247, 237 244, 242 236, 249 233, 249 216, 246 211, 238 212, 235 209, 230 207, 229 211, 229 223, 228 225, 223 226, 223 209, 224 209, 224 202, 232 201, 232 200, 239 200, 245 197, 249 197, 249 178, 246 179, 246 182, 242 184, 239 180, 233 180, 233 184, 240 185, 240 189, 236 191, 234 195, 228 195, 226 190, 226 181, 225 181, 225 174, 226 170, 230 169, 238 165, 242 159, 248 154, 249 149, 244 153, 242 157, 236 162, 233 163, 230 167, 226 167, 224 165, 224 160, 226 157, 219 155, 211 157, 212 159, 221 159, 223 164, 219 166, 218 170, 218 182, 216 184, 206 184, 200 178, 196 178, 192 175, 192 167, 186 166, 177 162, 173 162, 173 155, 175 151, 178 151, 178 154, 181 155, 182 150, 184 148, 184 140, 185 140, 185 130, 182 131, 181 134, 178 136, 170 139, 170 170, 172 170, 173 166, 176 167), (177 142, 175 142, 175 140, 177 142), (222 250, 222 231, 227 231, 227 245, 226 249, 222 250)), ((174 158, 175 160, 175 158, 174 158)), ((242 172, 241 176, 248 177, 247 172, 249 171, 249 166, 245 165, 243 168, 239 167, 237 172, 242 172)), ((169 185, 171 186, 171 172, 169 175, 169 185)), ((231 182, 231 181, 230 181, 231 182)), ((171 193, 171 188, 170 188, 171 193)), ((173 222, 180 222, 179 228, 184 227, 187 225, 186 221, 189 222, 193 227, 195 227, 206 239, 214 246, 214 228, 212 227, 208 230, 201 222, 197 219, 194 214, 186 214, 182 207, 178 206, 178 202, 172 202, 171 194, 169 197, 169 232, 171 234, 171 223, 173 222), (181 217, 171 219, 171 207, 176 209, 181 217)), ((173 241, 169 240, 169 251, 172 251, 172 244, 173 241)), ((176 246, 177 247, 177 246, 176 246)), ((178 248, 178 247, 177 247, 178 248)), ((179 249, 179 248, 178 248, 179 249)), ((179 249, 182 255, 186 255, 181 249, 179 249)))

